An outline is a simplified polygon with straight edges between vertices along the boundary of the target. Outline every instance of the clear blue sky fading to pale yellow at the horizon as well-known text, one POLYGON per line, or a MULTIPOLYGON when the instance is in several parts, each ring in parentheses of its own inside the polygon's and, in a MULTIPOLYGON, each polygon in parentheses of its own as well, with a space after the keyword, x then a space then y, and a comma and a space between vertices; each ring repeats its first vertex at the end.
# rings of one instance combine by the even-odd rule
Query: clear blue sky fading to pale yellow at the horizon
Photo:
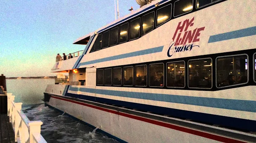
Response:
MULTIPOLYGON (((131 6, 119 0, 120 18, 131 6)), ((114 20, 114 0, 0 0, 0 74, 54 76, 57 53, 84 50, 73 42, 114 20)))

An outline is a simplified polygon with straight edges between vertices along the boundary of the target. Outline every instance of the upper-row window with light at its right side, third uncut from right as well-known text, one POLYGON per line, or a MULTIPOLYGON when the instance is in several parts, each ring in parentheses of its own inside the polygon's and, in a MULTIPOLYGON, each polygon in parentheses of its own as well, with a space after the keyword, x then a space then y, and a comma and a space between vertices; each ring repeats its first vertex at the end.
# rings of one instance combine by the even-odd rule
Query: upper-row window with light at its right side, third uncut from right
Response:
POLYGON ((130 22, 129 40, 139 38, 139 32, 140 32, 140 18, 137 18, 130 22))

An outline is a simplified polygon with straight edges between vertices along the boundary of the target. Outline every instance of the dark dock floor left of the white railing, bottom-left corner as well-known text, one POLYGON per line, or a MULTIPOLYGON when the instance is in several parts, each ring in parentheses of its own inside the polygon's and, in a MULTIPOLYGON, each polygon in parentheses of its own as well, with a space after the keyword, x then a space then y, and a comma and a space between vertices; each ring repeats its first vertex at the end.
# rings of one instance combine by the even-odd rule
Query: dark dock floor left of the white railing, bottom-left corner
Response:
POLYGON ((0 114, 0 143, 15 143, 14 131, 7 114, 0 114))

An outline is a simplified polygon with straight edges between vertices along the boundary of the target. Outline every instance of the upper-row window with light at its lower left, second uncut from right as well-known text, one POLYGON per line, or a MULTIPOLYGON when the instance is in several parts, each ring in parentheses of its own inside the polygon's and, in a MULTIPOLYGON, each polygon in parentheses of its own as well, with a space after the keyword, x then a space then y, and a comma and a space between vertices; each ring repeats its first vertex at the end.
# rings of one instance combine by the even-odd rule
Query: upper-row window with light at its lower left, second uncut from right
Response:
POLYGON ((151 12, 142 17, 142 36, 154 29, 154 13, 151 12))

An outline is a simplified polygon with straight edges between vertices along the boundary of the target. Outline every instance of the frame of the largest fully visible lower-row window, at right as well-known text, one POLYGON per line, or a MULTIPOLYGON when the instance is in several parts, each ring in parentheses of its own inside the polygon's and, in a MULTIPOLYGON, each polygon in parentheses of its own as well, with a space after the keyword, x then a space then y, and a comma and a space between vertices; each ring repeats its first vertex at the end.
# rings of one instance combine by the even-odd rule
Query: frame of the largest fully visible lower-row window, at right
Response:
POLYGON ((218 57, 216 57, 216 59, 215 59, 215 83, 216 83, 216 87, 217 88, 226 88, 226 87, 232 87, 232 86, 238 86, 238 85, 244 85, 244 84, 247 84, 248 82, 249 82, 249 56, 246 54, 246 53, 244 53, 244 54, 237 54, 237 55, 227 55, 227 56, 218 56, 218 57), (224 57, 235 57, 235 56, 243 56, 243 55, 246 55, 247 56, 247 82, 245 82, 245 83, 242 83, 242 84, 235 84, 235 85, 228 85, 228 86, 223 86, 223 87, 218 87, 217 86, 217 59, 218 58, 224 58, 224 57))

